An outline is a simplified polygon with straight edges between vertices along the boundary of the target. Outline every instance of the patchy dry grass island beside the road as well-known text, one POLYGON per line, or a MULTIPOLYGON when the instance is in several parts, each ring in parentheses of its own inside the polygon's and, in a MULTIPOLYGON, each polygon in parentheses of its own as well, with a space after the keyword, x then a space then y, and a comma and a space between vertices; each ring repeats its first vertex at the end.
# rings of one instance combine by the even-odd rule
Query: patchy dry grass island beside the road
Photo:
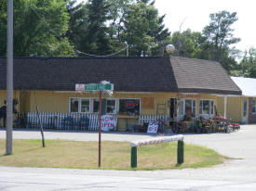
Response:
MULTIPOLYGON (((98 169, 98 142, 47 140, 13 140, 13 154, 5 155, 5 140, 0 139, 0 165, 15 167, 48 167, 98 169)), ((184 163, 177 165, 177 142, 138 147, 138 168, 130 168, 128 142, 101 143, 101 169, 165 170, 203 168, 221 164, 224 159, 215 151, 184 145, 184 163)))

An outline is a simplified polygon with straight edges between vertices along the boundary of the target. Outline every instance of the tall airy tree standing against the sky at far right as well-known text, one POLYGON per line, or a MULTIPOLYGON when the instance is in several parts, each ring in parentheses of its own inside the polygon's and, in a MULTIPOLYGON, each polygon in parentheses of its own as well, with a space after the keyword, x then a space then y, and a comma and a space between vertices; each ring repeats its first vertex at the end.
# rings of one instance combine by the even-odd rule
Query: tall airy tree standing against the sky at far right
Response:
MULTIPOLYGON (((216 60, 222 63, 226 70, 231 70, 230 63, 230 45, 234 45, 240 41, 234 37, 234 29, 231 26, 236 22, 236 12, 221 11, 209 15, 209 25, 203 30, 203 35, 206 37, 209 49, 209 59, 216 60)), ((233 63, 235 59, 233 58, 233 63)))

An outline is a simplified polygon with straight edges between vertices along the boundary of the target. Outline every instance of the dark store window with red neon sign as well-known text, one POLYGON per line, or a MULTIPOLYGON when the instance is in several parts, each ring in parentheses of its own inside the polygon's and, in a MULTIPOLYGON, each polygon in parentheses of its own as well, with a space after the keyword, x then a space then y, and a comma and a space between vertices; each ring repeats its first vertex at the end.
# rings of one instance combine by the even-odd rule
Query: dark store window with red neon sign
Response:
POLYGON ((140 99, 119 99, 119 113, 140 115, 140 99))

